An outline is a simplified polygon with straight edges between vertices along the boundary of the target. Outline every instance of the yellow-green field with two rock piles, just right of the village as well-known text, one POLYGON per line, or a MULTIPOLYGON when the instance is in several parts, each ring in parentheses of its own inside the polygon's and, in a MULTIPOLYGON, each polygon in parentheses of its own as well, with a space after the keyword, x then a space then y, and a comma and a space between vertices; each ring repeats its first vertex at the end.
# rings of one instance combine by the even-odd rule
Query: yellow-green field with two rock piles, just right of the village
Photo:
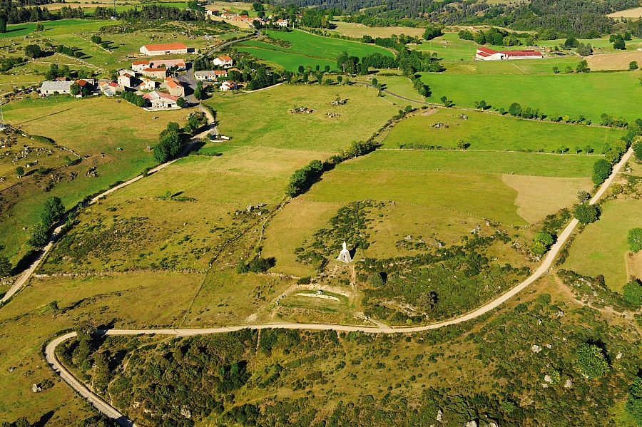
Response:
POLYGON ((291 86, 243 96, 214 96, 208 101, 223 135, 233 145, 265 145, 336 153, 352 140, 364 140, 397 113, 398 107, 377 98, 377 91, 359 86, 291 86), (335 98, 345 106, 331 106, 335 98), (292 114, 293 107, 311 114, 292 114), (255 113, 250 113, 255 112, 255 113), (328 118, 327 113, 340 113, 328 118))

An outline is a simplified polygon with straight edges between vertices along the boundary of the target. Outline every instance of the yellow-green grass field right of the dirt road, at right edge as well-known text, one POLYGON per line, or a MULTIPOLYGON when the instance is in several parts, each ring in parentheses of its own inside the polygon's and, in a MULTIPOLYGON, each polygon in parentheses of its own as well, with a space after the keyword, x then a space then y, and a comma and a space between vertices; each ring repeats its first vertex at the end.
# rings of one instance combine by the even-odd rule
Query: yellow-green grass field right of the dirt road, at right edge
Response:
POLYGON ((603 204, 600 220, 587 225, 575 238, 563 267, 592 277, 602 274, 606 286, 622 292, 628 282, 628 230, 641 226, 641 200, 612 200, 603 204))

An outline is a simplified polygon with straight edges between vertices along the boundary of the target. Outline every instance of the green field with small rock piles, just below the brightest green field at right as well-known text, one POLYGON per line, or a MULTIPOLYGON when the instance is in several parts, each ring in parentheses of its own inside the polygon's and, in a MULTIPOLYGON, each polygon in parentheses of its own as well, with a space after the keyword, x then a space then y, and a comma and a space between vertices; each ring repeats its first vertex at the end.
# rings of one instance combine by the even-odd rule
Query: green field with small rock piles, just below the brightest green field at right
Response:
POLYGON ((626 132, 620 129, 522 120, 507 115, 441 108, 429 115, 414 115, 394 125, 384 146, 404 144, 440 145, 457 148, 457 141, 470 144, 468 150, 554 152, 565 147, 582 153, 586 147, 600 153, 604 144, 613 145, 626 132), (459 118, 464 113, 467 119, 459 118), (433 128, 437 123, 443 127, 433 128), (447 126, 447 127, 446 127, 447 126))

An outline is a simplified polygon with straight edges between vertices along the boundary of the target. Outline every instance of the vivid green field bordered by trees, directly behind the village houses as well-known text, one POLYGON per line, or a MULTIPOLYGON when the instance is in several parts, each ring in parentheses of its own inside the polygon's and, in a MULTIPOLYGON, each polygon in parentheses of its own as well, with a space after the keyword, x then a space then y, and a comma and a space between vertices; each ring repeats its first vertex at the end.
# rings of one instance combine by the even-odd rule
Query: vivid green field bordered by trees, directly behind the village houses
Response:
POLYGON ((323 67, 327 64, 335 68, 335 58, 343 51, 358 57, 375 52, 392 56, 392 52, 372 44, 316 36, 304 31, 295 30, 287 33, 284 31, 266 31, 266 34, 272 38, 286 41, 290 43, 290 46, 286 48, 263 41, 247 41, 242 46, 239 46, 238 50, 252 53, 257 58, 264 59, 290 71, 295 71, 300 65, 320 65, 323 67), (303 58, 299 58, 299 56, 304 56, 308 59, 303 62, 303 58))

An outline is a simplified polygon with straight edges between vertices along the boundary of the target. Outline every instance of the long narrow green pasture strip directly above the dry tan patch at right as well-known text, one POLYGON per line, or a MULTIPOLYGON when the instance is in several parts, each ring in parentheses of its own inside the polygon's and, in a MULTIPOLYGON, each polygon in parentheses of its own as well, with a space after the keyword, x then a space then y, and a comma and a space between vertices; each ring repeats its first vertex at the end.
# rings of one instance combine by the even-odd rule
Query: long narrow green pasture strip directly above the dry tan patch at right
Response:
POLYGON ((337 170, 448 171, 583 178, 591 175, 594 162, 593 156, 586 155, 460 150, 377 150, 362 158, 341 163, 337 166, 337 170))

